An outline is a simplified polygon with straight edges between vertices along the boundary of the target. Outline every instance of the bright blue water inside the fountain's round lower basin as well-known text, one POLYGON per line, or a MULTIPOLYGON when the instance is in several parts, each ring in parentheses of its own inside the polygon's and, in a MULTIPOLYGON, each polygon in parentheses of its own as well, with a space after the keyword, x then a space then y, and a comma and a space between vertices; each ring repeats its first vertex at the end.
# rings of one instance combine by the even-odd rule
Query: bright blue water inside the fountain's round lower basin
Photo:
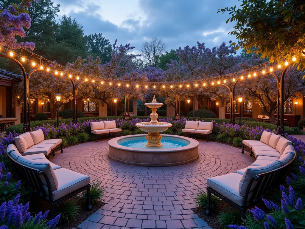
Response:
POLYGON ((121 146, 138 148, 138 149, 172 149, 172 148, 187 146, 188 144, 190 144, 188 140, 175 138, 171 136, 163 136, 163 138, 161 139, 162 146, 148 147, 146 146, 146 143, 147 140, 145 139, 145 136, 130 137, 127 138, 126 140, 124 139, 124 142, 118 141, 118 144, 120 144, 121 146))

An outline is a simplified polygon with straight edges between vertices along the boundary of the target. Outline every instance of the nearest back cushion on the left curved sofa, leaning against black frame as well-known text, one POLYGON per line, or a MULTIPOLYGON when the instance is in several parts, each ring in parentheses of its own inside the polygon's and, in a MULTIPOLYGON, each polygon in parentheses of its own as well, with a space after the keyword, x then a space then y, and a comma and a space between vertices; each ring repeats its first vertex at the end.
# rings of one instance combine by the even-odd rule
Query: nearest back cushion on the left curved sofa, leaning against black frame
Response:
MULTIPOLYGON (((38 159, 41 160, 41 159, 38 159)), ((25 157, 19 157, 17 160, 20 164, 23 164, 25 166, 28 166, 30 168, 33 169, 37 169, 37 170, 42 170, 45 172, 45 174, 47 175, 50 185, 51 185, 51 189, 52 190, 56 190, 58 187, 58 180, 56 177, 56 174, 54 173, 49 161, 48 162, 38 162, 37 160, 31 160, 25 157)), ((43 184, 46 184, 46 180, 45 177, 43 175, 39 176, 41 179, 41 182, 43 184)))

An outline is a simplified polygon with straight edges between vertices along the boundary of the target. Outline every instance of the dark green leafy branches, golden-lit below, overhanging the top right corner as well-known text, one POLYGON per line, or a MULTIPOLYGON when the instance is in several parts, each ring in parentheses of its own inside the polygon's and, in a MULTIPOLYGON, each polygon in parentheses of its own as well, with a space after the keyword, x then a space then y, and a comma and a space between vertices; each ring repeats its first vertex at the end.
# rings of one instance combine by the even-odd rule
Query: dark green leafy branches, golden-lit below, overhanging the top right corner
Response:
MULTIPOLYGON (((238 39, 236 50, 241 47, 281 63, 305 50, 304 7, 305 2, 300 0, 242 0, 237 9, 235 5, 218 13, 228 12, 227 23, 236 22, 230 33, 238 39)), ((297 58, 295 63, 305 68, 305 58, 297 58)))

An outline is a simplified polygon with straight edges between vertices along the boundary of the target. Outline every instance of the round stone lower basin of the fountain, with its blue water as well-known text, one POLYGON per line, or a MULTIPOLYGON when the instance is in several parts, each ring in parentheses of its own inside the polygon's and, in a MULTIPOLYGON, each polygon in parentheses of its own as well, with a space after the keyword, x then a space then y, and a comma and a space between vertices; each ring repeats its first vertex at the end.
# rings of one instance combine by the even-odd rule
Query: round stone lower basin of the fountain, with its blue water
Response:
POLYGON ((162 146, 148 147, 145 136, 138 134, 109 140, 108 157, 120 163, 139 166, 183 165, 198 158, 197 140, 184 136, 162 135, 162 146))

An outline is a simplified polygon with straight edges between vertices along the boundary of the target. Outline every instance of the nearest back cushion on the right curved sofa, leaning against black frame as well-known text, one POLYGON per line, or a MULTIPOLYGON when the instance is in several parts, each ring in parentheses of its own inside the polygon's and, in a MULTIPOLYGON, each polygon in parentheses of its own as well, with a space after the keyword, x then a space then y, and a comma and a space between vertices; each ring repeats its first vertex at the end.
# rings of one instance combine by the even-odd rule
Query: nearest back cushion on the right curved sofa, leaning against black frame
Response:
MULTIPOLYGON (((274 169, 278 169, 279 167, 281 167, 281 163, 278 162, 278 161, 270 162, 268 164, 261 165, 261 166, 253 166, 253 165, 248 166, 247 167, 248 169, 242 175, 242 178, 239 181, 239 187, 238 187, 239 188, 239 194, 241 196, 245 196, 247 186, 248 186, 251 178, 254 175, 259 175, 261 173, 267 173, 267 172, 270 172, 274 169)), ((252 191, 255 188, 256 183, 257 182, 253 182, 250 191, 252 191)))

